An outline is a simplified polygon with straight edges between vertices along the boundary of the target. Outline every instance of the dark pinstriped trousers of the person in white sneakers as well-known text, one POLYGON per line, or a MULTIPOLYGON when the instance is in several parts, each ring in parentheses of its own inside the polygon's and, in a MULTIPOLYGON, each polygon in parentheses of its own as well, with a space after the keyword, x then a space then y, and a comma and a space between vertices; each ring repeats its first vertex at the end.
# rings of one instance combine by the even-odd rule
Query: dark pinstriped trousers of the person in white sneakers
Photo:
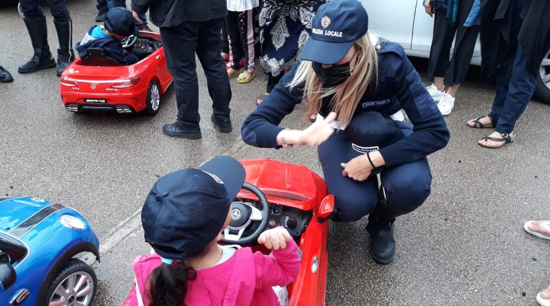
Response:
POLYGON ((474 0, 459 1, 459 12, 454 25, 447 20, 444 10, 435 12, 434 34, 428 63, 429 80, 433 81, 434 77, 444 78, 445 86, 452 86, 461 84, 466 77, 479 33, 478 25, 464 26, 473 4, 474 0), (454 51, 449 61, 455 34, 454 51))

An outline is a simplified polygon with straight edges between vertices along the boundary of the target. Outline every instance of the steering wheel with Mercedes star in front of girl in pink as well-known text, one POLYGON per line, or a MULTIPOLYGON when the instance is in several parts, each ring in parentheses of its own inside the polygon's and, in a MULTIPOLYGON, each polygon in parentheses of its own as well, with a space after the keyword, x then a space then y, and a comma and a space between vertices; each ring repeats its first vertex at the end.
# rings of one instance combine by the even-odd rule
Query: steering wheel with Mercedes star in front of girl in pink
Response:
POLYGON ((262 208, 259 210, 241 201, 232 202, 230 210, 231 221, 229 226, 223 231, 223 239, 221 239, 225 243, 255 244, 260 234, 267 228, 267 219, 270 217, 270 205, 267 204, 265 195, 258 187, 252 184, 243 184, 243 189, 250 191, 258 197, 262 208), (258 228, 252 234, 243 236, 243 232, 252 222, 259 222, 258 228))

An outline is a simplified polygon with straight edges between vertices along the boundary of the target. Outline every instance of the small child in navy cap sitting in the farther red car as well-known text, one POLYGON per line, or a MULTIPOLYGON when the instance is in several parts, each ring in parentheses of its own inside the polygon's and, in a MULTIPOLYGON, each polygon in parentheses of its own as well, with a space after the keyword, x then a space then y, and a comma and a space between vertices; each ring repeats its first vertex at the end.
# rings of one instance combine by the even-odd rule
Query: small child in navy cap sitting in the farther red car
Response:
POLYGON ((132 13, 126 8, 112 8, 107 13, 104 25, 92 25, 76 51, 81 58, 87 56, 90 48, 103 49, 108 57, 113 58, 118 65, 132 65, 139 61, 135 54, 126 53, 122 49, 122 41, 128 36, 139 36, 140 30, 135 28, 132 13))

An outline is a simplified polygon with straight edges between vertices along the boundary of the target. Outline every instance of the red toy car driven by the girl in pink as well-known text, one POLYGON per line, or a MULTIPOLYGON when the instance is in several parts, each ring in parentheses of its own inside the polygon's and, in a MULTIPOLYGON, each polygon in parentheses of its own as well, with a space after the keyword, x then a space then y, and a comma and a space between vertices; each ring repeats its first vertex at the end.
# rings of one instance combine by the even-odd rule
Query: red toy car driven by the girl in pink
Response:
MULTIPOLYGON (((325 305, 327 219, 334 208, 334 197, 327 195, 325 181, 306 166, 277 160, 240 162, 246 179, 231 210, 244 217, 232 219, 222 242, 250 245, 254 251, 270 254, 270 250, 258 245, 258 237, 267 228, 284 226, 302 251, 300 274, 287 286, 289 306, 325 305)), ((136 294, 135 287, 126 303, 132 294, 136 294)))

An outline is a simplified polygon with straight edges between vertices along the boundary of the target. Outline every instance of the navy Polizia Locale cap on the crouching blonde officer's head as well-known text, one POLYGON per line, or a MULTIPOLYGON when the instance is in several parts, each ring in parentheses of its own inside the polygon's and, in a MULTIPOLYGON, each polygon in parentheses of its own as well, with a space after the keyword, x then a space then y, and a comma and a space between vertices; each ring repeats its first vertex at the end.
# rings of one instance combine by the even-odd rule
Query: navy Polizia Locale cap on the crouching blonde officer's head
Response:
POLYGON ((369 15, 357 0, 332 0, 317 10, 300 60, 338 63, 369 29, 369 15))

